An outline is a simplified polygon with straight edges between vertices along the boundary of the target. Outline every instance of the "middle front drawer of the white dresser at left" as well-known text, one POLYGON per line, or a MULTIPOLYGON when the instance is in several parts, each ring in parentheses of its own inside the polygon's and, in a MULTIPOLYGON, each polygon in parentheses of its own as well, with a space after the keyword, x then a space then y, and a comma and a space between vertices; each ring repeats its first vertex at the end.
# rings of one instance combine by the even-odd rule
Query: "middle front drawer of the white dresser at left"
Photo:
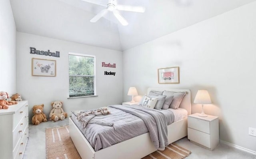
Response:
POLYGON ((26 131, 26 126, 28 125, 28 112, 23 116, 20 122, 16 125, 13 133, 13 149, 16 147, 18 141, 26 131))

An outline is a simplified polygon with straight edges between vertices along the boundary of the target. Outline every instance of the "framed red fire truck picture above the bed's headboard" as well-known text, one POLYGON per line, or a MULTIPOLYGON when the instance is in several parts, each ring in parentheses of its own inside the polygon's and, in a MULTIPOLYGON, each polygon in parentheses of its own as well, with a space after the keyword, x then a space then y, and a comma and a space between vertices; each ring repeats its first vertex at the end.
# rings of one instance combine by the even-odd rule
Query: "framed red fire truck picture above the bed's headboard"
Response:
POLYGON ((180 83, 179 67, 159 68, 158 83, 180 83))

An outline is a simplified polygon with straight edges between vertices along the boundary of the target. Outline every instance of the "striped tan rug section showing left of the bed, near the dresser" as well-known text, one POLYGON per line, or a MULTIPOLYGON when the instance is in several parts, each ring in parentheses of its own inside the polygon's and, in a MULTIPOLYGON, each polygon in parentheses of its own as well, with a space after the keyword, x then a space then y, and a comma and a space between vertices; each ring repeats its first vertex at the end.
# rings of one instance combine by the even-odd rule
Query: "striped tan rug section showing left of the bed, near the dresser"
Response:
POLYGON ((46 129, 46 159, 81 159, 70 138, 68 127, 46 129))

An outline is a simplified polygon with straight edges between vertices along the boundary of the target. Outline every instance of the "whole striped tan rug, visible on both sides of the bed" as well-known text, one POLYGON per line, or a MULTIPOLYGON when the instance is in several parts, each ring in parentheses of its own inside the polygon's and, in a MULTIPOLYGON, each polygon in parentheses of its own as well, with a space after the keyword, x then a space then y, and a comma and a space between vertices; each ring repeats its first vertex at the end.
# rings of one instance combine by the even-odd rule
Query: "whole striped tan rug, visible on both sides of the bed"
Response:
MULTIPOLYGON (((46 159, 81 159, 72 142, 68 125, 46 129, 46 159)), ((184 159, 191 151, 171 143, 164 151, 155 151, 142 159, 184 159)))

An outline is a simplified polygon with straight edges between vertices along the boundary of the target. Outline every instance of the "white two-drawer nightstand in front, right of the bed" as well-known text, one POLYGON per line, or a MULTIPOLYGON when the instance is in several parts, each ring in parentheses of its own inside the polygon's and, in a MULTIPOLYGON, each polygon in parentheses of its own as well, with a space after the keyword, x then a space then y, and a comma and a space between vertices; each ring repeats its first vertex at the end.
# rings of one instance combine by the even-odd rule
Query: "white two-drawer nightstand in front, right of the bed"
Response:
POLYGON ((188 115, 188 139, 206 149, 213 150, 219 144, 219 118, 200 113, 188 115))

